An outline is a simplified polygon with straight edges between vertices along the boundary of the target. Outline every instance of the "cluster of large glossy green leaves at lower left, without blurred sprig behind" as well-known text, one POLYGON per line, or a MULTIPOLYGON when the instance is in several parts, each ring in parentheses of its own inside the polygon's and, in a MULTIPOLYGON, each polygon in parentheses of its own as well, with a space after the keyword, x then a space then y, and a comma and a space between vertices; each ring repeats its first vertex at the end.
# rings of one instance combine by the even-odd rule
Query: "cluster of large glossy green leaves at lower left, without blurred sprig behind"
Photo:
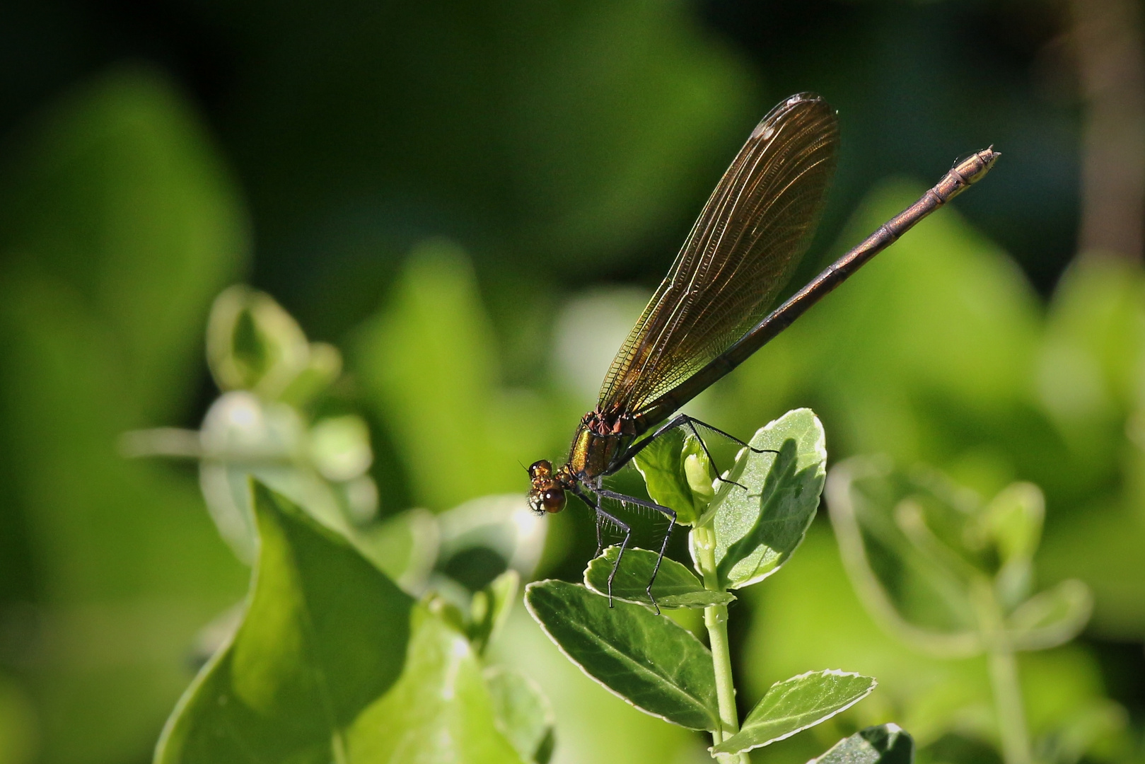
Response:
POLYGON ((253 483, 258 562, 240 625, 199 672, 156 762, 547 762, 553 718, 523 675, 480 655, 513 572, 467 616, 418 602, 345 536, 253 483))

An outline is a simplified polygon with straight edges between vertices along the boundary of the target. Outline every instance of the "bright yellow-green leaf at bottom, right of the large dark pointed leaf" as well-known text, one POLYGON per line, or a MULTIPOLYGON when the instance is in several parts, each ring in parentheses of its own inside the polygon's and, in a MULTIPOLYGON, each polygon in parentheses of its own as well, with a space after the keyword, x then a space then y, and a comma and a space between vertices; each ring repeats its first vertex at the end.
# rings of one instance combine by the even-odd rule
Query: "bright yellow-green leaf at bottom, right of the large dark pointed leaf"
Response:
POLYGON ((353 723, 342 756, 322 761, 521 764, 465 635, 423 607, 412 621, 401 679, 353 723))

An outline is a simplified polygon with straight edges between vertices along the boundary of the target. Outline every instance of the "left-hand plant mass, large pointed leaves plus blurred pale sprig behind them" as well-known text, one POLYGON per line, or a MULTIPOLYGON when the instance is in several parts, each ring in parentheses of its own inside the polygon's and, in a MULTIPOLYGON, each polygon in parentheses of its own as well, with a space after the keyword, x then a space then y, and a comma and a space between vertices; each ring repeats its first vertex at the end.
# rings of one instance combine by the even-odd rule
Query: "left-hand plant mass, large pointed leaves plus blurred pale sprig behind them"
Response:
POLYGON ((198 459, 220 535, 252 566, 245 601, 200 635, 204 665, 157 764, 545 764, 547 699, 484 657, 545 523, 520 496, 379 521, 366 425, 331 400, 340 354, 309 342, 267 294, 219 296, 207 356, 222 394, 202 430, 123 441, 135 456, 198 459), (453 561, 475 549, 499 569, 459 580, 453 561))

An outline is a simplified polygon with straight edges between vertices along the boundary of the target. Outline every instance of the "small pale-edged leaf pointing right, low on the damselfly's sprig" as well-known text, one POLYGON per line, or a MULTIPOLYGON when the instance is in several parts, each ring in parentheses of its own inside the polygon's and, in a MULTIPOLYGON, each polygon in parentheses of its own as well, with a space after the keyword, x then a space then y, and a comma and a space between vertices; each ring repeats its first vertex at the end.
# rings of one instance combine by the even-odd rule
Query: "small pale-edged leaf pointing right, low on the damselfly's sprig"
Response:
POLYGON ((776 682, 748 714, 743 727, 712 750, 739 754, 790 738, 851 708, 876 684, 872 677, 845 671, 808 671, 776 682))

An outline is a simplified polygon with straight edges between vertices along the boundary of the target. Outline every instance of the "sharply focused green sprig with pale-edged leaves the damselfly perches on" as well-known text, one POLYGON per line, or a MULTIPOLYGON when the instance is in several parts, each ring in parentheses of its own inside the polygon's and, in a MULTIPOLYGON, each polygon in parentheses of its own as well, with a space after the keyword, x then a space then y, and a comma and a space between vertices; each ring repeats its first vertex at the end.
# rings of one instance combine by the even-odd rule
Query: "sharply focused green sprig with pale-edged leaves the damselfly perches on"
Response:
POLYGON ((712 734, 712 756, 748 751, 814 726, 866 698, 875 679, 838 670, 775 683, 740 724, 727 606, 734 590, 776 573, 803 541, 826 475, 823 428, 808 409, 760 428, 722 479, 694 435, 674 431, 637 457, 649 495, 690 526, 696 574, 665 559, 653 585, 660 607, 702 608, 709 646, 658 613, 645 592, 656 554, 609 548, 589 564, 584 585, 540 581, 526 605, 586 675, 653 716, 712 734))

